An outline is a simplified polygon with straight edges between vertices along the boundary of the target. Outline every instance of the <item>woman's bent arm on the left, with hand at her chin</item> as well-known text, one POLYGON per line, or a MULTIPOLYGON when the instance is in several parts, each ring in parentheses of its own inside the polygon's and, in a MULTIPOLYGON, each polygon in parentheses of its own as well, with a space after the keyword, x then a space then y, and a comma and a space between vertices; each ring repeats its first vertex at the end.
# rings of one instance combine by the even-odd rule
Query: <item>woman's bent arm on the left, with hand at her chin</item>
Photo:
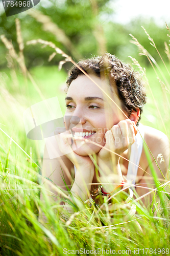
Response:
MULTIPOLYGON (((88 156, 83 157, 77 155, 73 151, 71 152, 70 143, 67 143, 67 139, 70 139, 70 136, 70 133, 67 131, 65 133, 61 133, 57 138, 58 152, 60 151, 61 157, 50 159, 45 147, 42 176, 51 179, 55 185, 66 190, 63 179, 65 180, 67 186, 71 185, 72 178, 70 173, 71 169, 74 170, 75 165, 77 172, 74 184, 71 188, 71 194, 74 198, 69 196, 69 200, 75 201, 79 206, 82 201, 89 198, 89 190, 91 188, 91 183, 94 176, 94 165, 88 156), (64 154, 65 152, 67 152, 67 154, 64 154)), ((43 178, 43 182, 48 190, 59 196, 55 187, 52 184, 50 185, 48 180, 43 178)), ((68 193, 66 194, 68 195, 68 193)), ((42 196, 41 200, 43 200, 42 196)), ((72 211, 71 207, 67 203, 65 203, 64 209, 72 211)))

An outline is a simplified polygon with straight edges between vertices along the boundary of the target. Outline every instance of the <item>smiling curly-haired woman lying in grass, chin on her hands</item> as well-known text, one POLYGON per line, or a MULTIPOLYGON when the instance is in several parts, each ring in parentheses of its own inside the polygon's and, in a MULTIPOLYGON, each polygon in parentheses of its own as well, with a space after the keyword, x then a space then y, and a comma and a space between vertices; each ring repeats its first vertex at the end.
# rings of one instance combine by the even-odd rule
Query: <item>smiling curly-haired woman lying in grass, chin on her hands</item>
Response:
MULTIPOLYGON (((162 132, 139 124, 146 103, 140 75, 110 54, 78 65, 88 76, 76 66, 70 70, 65 98, 69 125, 55 132, 60 157, 50 159, 45 148, 43 176, 66 189, 63 176, 69 187, 74 170, 71 193, 76 202, 89 199, 89 191, 101 184, 103 196, 113 195, 124 184, 140 184, 134 186, 139 197, 148 193, 154 179, 143 139, 160 182, 169 164, 169 142, 162 132), (159 167, 154 160, 158 154, 163 157, 159 167)), ((153 194, 143 197, 145 204, 153 194)), ((68 205, 64 207, 70 210, 68 205)))

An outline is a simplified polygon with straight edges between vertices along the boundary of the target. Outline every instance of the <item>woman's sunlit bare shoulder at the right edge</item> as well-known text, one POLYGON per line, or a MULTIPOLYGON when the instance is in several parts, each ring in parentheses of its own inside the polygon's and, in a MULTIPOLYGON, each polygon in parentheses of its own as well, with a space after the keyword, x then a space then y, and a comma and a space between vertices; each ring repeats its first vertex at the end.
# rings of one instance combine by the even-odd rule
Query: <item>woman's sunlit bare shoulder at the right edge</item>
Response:
POLYGON ((169 164, 169 139, 161 131, 153 127, 144 125, 144 140, 150 148, 153 156, 157 158, 158 154, 162 154, 166 165, 169 164))

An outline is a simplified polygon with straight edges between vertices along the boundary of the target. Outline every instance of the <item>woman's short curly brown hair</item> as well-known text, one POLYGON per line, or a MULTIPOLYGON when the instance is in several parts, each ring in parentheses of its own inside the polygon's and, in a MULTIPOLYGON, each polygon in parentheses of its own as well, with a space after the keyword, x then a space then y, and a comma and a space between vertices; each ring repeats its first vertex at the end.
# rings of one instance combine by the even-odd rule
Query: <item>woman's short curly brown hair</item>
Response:
MULTIPOLYGON (((122 102, 125 111, 131 115, 132 111, 136 111, 138 108, 141 113, 143 112, 143 106, 146 103, 146 91, 141 75, 132 69, 132 67, 120 61, 116 56, 109 53, 103 56, 98 56, 90 59, 84 59, 78 62, 87 74, 95 74, 101 77, 102 72, 109 78, 111 86, 114 81, 117 87, 117 94, 122 102)), ((76 66, 73 66, 69 71, 67 78, 67 88, 70 86, 72 80, 76 79, 79 75, 82 75, 82 71, 76 66)), ((137 125, 138 125, 137 122, 137 125)))

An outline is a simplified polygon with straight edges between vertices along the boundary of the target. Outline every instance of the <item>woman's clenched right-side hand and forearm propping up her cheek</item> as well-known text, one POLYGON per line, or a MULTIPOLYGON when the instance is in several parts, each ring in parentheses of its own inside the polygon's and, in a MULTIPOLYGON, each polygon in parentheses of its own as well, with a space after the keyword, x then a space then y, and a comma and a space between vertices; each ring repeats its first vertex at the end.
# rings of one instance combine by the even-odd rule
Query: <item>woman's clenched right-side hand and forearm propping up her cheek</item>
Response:
POLYGON ((107 192, 114 189, 114 183, 119 184, 123 181, 119 159, 120 155, 135 141, 137 131, 134 126, 135 123, 127 119, 113 125, 111 130, 105 133, 106 144, 97 155, 98 165, 101 170, 101 183, 107 184, 104 186, 104 190, 107 192), (107 148, 113 153, 108 151, 107 148))

